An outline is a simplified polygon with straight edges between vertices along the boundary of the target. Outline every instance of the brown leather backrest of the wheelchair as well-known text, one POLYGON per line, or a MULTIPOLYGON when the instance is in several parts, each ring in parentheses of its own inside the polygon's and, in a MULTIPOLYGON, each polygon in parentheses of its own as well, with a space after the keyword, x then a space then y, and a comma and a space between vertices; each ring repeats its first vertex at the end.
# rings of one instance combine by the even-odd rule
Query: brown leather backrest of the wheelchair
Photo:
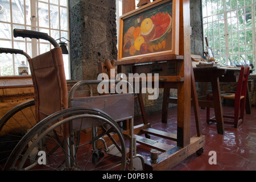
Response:
POLYGON ((68 108, 68 89, 60 47, 29 59, 36 121, 68 108))

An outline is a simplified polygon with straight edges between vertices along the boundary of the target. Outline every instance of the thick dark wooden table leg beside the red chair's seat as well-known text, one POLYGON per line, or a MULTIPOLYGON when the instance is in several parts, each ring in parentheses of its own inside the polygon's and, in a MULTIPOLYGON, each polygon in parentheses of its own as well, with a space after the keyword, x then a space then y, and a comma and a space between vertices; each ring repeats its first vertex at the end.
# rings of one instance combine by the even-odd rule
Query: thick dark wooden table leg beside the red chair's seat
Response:
POLYGON ((215 113, 215 118, 217 123, 217 132, 218 134, 225 134, 221 96, 220 96, 220 82, 218 77, 212 77, 211 84, 212 84, 212 94, 213 94, 213 101, 214 101, 214 113, 215 113))

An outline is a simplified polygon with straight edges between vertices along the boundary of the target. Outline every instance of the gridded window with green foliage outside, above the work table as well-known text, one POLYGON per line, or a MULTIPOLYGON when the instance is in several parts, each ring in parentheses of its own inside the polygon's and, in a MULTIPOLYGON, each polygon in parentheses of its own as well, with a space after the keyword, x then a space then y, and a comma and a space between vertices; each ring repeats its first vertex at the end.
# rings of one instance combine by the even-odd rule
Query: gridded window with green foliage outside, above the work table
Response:
POLYGON ((202 8, 204 37, 216 60, 221 65, 255 67, 256 1, 202 0, 202 8))

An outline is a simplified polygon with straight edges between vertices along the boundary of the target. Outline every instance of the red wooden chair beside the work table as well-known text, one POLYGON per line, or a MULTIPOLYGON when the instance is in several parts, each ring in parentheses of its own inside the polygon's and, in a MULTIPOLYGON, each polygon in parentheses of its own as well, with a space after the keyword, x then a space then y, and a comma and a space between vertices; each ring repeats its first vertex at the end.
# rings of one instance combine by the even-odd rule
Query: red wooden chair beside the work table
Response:
MULTIPOLYGON (((246 89, 250 68, 248 65, 241 67, 240 75, 237 82, 236 93, 221 93, 221 98, 234 100, 234 115, 223 115, 224 118, 232 118, 234 121, 224 121, 224 123, 233 124, 238 127, 243 122, 243 114, 245 113, 246 89), (240 115, 239 115, 240 111, 240 115)), ((207 95, 207 100, 212 99, 212 94, 207 95)), ((214 117, 213 117, 214 118, 214 117)), ((207 123, 216 122, 210 118, 210 107, 207 107, 207 123)))

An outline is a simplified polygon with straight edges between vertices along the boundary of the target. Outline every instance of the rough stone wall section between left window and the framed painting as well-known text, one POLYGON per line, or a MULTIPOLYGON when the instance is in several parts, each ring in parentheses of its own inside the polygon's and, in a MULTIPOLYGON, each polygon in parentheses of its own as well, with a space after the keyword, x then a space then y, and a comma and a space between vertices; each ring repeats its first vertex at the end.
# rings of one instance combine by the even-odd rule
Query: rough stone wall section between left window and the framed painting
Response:
POLYGON ((98 62, 117 59, 115 1, 69 1, 71 79, 95 80, 98 62))

